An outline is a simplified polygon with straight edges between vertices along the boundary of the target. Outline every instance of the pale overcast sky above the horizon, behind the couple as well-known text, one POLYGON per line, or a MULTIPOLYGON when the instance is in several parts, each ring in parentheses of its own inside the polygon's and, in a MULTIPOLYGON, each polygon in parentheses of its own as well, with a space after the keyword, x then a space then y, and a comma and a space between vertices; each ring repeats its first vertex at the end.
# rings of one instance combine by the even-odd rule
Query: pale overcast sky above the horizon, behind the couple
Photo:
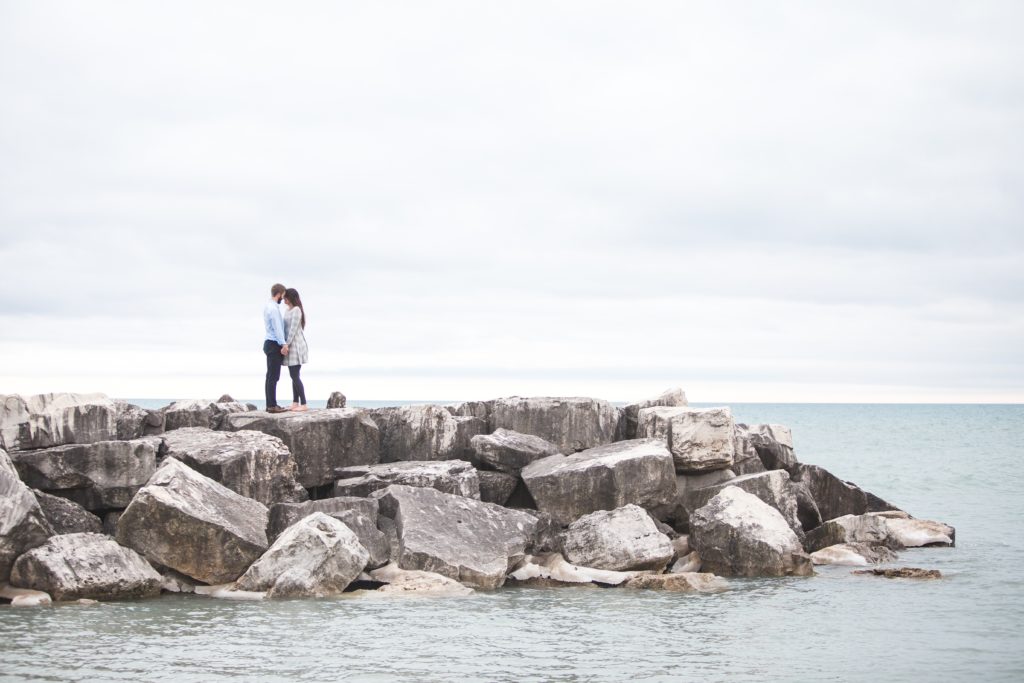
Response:
POLYGON ((0 0, 0 393, 1024 400, 1021 27, 0 0))

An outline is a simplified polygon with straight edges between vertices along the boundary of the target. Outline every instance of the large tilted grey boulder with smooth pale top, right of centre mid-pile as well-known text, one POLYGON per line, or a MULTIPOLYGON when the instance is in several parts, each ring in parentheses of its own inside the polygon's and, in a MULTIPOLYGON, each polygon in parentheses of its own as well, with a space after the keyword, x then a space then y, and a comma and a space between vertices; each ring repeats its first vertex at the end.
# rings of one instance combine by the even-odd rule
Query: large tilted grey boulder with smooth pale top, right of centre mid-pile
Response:
POLYGON ((657 439, 549 456, 523 468, 521 476, 538 509, 560 524, 631 503, 648 511, 671 509, 676 497, 672 455, 657 439))

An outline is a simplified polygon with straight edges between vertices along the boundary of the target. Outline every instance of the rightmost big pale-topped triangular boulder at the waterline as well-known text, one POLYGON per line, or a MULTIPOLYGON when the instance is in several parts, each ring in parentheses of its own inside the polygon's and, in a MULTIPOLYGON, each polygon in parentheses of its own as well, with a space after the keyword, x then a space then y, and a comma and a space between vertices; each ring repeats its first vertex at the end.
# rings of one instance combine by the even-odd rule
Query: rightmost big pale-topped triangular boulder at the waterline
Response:
POLYGON ((703 569, 720 577, 806 577, 814 571, 781 513, 737 486, 726 486, 690 515, 689 542, 703 569))

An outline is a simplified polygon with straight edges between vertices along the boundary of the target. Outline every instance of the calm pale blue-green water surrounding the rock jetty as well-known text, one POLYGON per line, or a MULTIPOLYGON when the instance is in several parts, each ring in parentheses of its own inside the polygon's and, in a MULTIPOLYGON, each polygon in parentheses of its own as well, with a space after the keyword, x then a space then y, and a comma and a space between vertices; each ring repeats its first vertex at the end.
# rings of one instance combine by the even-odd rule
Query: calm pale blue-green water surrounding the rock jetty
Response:
MULTIPOLYGON (((158 404, 166 401, 158 401, 158 404)), ((732 581, 709 596, 506 589, 458 599, 196 596, 0 608, 3 680, 1024 680, 1024 407, 733 404, 952 549, 937 582, 732 581)))

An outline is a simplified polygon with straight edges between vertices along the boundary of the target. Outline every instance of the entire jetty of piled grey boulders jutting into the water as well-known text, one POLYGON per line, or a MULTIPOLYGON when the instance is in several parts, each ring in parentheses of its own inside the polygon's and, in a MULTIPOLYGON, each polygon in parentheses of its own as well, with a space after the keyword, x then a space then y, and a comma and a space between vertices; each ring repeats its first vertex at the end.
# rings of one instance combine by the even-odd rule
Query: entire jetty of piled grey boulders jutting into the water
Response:
MULTIPOLYGON (((827 470, 782 425, 585 397, 270 415, 3 395, 0 602, 506 585, 726 590, 952 546, 827 470)), ((915 575, 880 569, 885 577, 915 575)), ((929 574, 934 575, 934 574, 929 574)))

